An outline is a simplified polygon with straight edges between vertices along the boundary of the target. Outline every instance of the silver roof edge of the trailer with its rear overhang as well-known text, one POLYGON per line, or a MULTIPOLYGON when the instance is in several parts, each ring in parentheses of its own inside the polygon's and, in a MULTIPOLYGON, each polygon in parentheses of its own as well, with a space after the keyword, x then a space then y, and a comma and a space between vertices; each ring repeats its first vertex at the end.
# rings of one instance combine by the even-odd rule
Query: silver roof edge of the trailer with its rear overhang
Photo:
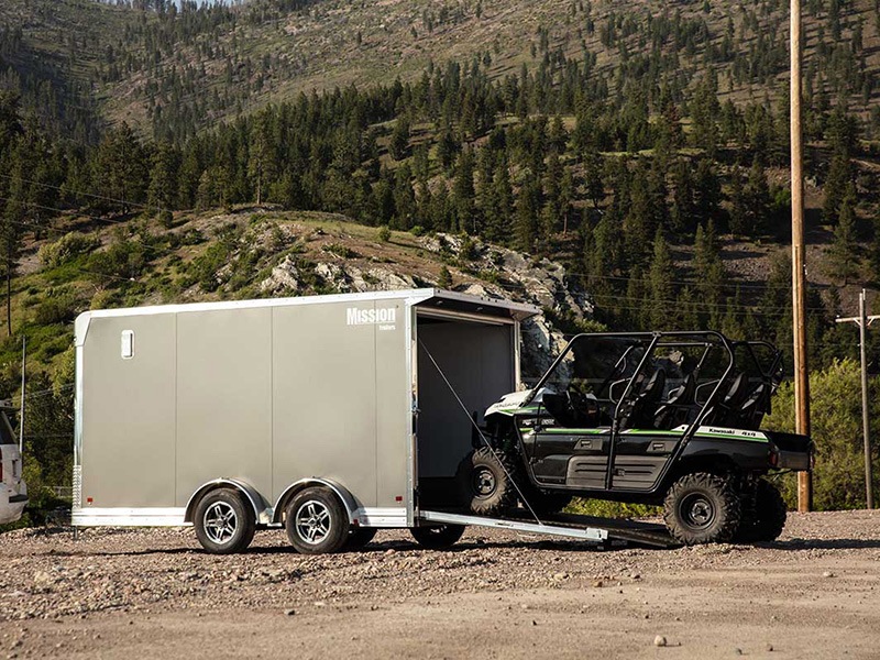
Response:
POLYGON ((184 314, 188 311, 211 311, 220 309, 249 309, 255 307, 287 307, 294 305, 320 305, 326 302, 360 302, 367 300, 406 300, 407 306, 430 306, 448 309, 465 309, 506 316, 524 320, 541 312, 534 305, 513 302, 501 298, 473 296, 448 292, 438 288, 399 289, 389 292, 366 292, 360 294, 333 294, 329 296, 298 296, 295 298, 258 298, 254 300, 227 300, 215 302, 185 302, 177 305, 148 305, 144 307, 127 307, 120 309, 94 309, 84 311, 76 319, 77 343, 85 339, 89 319, 102 317, 129 317, 157 314, 184 314))

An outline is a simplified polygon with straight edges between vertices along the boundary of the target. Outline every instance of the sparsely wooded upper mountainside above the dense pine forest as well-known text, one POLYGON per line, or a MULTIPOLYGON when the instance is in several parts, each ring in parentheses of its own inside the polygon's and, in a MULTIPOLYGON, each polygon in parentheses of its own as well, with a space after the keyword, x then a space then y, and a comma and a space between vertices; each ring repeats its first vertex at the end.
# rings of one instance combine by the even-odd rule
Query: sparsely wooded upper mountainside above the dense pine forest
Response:
MULTIPOLYGON (((302 91, 416 81, 450 61, 481 63, 493 79, 518 76, 522 65, 559 78, 566 63, 586 63, 610 95, 631 94, 634 77, 667 74, 688 88, 710 72, 721 101, 774 103, 787 92, 782 0, 122 4, 6 0, 0 64, 25 85, 48 81, 56 96, 87 90, 101 117, 156 136, 183 136, 302 91)), ((804 11, 809 97, 828 103, 843 95, 867 116, 878 91, 880 10, 870 0, 811 0, 804 11)))

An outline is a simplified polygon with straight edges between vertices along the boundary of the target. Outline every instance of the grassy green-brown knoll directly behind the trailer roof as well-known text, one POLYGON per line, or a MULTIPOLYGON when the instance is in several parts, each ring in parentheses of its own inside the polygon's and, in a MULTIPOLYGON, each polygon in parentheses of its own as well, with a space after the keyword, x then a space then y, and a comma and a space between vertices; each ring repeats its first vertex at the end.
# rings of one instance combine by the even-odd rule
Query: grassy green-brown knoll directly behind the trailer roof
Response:
MULTIPOLYGON (((392 232, 381 241, 375 228, 355 224, 330 213, 276 212, 257 209, 179 213, 170 231, 154 220, 132 220, 120 228, 95 224, 91 219, 68 220, 65 229, 96 237, 100 248, 46 267, 40 249, 52 240, 31 242, 25 249, 21 275, 13 282, 12 323, 24 332, 29 353, 38 370, 62 366, 72 345, 72 321, 76 314, 97 307, 239 299, 267 295, 258 284, 272 268, 290 255, 299 264, 301 288, 274 295, 320 294, 331 289, 311 275, 317 263, 342 263, 366 272, 371 268, 437 282, 448 265, 454 285, 477 282, 466 267, 457 267, 426 250, 414 235, 392 232), (112 249, 124 237, 131 245, 146 245, 145 263, 133 280, 123 273, 101 275, 97 253, 112 249), (146 238, 145 238, 146 237, 146 238), (218 251, 218 245, 228 250, 218 251), (200 267, 205 271, 200 271, 200 267), (220 271, 223 284, 206 290, 205 272, 220 271)), ((132 254, 138 254, 133 251, 132 254)), ((454 255, 453 255, 454 257, 454 255)), ((210 288, 210 287, 208 287, 210 288)), ((333 292, 336 293, 336 292, 333 292)), ((3 320, 4 320, 3 310, 3 320)), ((0 331, 6 336, 6 323, 0 331)), ((0 365, 14 370, 20 359, 20 339, 0 341, 0 365)))

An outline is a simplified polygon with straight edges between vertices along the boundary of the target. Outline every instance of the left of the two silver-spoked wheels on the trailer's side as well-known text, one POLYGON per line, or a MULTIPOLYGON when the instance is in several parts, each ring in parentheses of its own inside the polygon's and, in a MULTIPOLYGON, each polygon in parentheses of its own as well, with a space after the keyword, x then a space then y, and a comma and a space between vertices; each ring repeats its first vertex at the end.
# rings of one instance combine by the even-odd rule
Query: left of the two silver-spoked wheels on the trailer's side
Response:
POLYGON ((254 539, 256 518, 241 493, 211 491, 199 501, 194 516, 196 538, 212 554, 241 552, 254 539))

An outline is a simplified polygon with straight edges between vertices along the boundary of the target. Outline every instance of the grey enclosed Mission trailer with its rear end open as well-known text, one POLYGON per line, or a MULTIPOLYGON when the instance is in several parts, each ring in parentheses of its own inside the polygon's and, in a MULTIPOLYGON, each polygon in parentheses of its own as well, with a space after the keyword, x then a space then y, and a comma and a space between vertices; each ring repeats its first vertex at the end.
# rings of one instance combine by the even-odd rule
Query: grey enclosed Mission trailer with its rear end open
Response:
POLYGON ((85 312, 73 524, 193 524, 215 552, 280 526, 304 552, 371 528, 443 544, 474 421, 517 387, 538 312, 430 288, 85 312))

